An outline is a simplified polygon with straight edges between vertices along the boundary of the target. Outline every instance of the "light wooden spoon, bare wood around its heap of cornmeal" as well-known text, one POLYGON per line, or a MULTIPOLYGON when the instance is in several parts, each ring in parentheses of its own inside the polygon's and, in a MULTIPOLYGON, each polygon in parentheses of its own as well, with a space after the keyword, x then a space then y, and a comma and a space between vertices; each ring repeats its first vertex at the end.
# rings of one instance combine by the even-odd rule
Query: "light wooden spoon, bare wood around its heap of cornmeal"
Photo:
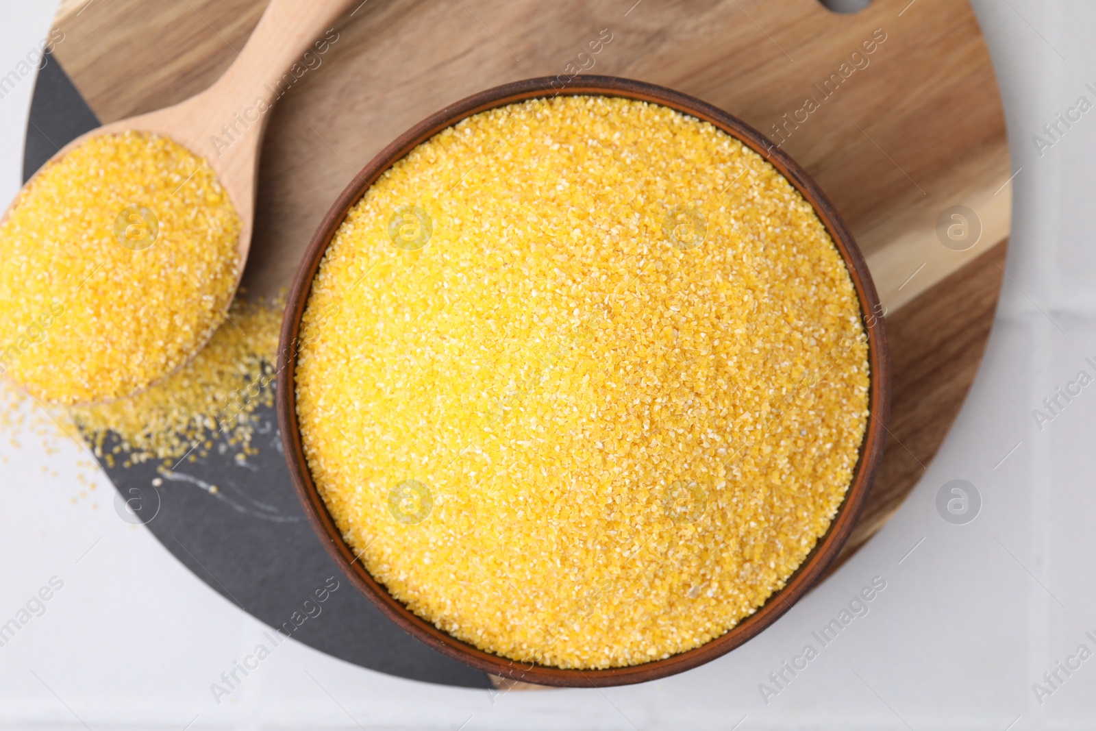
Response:
MULTIPOLYGON (((127 130, 169 137, 205 158, 240 217, 239 264, 235 285, 239 287, 251 248, 259 149, 270 107, 315 64, 318 52, 327 49, 322 44, 331 38, 321 38, 321 35, 353 2, 271 0, 243 50, 237 54, 236 61, 212 87, 174 106, 112 122, 81 135, 58 150, 50 162, 91 137, 127 130), (306 55, 309 50, 311 55, 306 55)), ((43 165, 42 170, 46 167, 43 165)), ((30 184, 31 181, 26 185, 30 184)), ((14 205, 12 203, 12 207, 14 205)), ((4 218, 12 207, 9 207, 4 218)), ((196 342, 193 352, 179 368, 190 363, 207 342, 208 338, 196 342)), ((159 382, 169 375, 163 374, 152 382, 159 382)))

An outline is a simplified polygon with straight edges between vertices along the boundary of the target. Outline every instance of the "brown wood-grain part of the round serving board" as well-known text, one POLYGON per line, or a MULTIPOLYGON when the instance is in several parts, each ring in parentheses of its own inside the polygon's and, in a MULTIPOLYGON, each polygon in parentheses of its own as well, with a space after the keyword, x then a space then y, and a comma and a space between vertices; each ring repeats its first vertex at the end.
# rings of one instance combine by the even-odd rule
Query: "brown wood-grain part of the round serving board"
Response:
MULTIPOLYGON (((54 56, 111 122, 209 85, 265 4, 64 0, 54 56)), ((874 0, 844 15, 818 0, 366 0, 335 30, 270 113, 250 293, 288 285, 323 214, 376 152, 476 91, 585 70, 693 94, 783 140, 867 258, 887 306, 891 438, 843 556, 886 523, 962 403, 1003 274, 1005 123, 966 2, 874 0), (980 219, 966 251, 937 233, 957 205, 980 219)))

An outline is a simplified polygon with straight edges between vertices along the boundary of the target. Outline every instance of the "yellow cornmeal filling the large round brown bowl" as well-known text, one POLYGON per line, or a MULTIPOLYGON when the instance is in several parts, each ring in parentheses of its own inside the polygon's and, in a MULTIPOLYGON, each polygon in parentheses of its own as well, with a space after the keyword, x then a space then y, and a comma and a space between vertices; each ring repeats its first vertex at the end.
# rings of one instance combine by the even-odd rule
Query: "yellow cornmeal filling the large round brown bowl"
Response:
POLYGON ((304 315, 305 454, 437 627, 560 667, 666 658, 830 525, 868 415, 859 318, 811 206, 732 137, 642 102, 513 104, 347 214, 304 315))

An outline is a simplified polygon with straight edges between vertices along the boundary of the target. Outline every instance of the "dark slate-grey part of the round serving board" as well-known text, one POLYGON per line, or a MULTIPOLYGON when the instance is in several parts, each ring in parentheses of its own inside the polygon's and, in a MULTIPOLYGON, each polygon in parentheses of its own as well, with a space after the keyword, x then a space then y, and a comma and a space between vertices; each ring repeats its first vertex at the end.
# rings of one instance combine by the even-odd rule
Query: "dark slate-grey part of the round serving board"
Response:
MULTIPOLYGON (((38 70, 27 124, 24 182, 61 146, 99 119, 57 64, 38 70)), ((202 581, 271 627, 369 670, 427 683, 488 688, 483 673, 427 648, 381 615, 331 561, 305 518, 282 455, 273 409, 260 409, 260 454, 244 466, 235 450, 183 460, 157 489, 159 462, 103 469, 133 512, 202 581), (217 486, 216 493, 207 487, 217 486), (333 582, 338 589, 330 590, 333 582), (326 601, 317 602, 319 596, 326 601), (306 602, 310 602, 306 605, 306 602), (309 616, 311 615, 311 616, 309 616), (288 623, 288 624, 287 624, 288 623)), ((226 445, 227 446, 227 445, 226 445)))

